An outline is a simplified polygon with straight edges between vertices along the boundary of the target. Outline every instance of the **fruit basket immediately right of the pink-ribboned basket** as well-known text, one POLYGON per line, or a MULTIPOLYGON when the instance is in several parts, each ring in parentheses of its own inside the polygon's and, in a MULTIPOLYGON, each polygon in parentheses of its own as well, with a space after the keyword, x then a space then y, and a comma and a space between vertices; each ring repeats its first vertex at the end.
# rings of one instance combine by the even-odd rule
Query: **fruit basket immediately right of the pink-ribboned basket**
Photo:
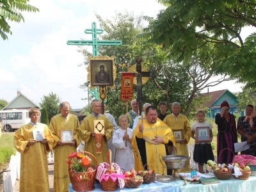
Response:
POLYGON ((131 169, 129 172, 124 172, 124 175, 124 186, 126 188, 138 188, 143 183, 143 177, 138 175, 134 169, 131 169))

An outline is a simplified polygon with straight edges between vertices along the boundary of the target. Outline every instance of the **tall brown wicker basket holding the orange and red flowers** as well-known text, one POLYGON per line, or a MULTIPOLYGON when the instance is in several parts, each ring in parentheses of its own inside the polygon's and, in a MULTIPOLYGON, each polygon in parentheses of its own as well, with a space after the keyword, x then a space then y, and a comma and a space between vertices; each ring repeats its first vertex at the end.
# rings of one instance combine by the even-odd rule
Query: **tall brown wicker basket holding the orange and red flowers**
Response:
MULTIPOLYGON (((90 154, 86 151, 77 152, 76 154, 90 154)), ((97 159, 93 154, 90 154, 95 159, 96 164, 97 159)), ((74 157, 71 157, 69 161, 72 161, 74 157)), ((76 172, 75 170, 72 170, 72 164, 68 164, 68 172, 69 172, 69 178, 72 183, 72 189, 77 192, 83 192, 83 191, 93 191, 94 189, 94 183, 95 183, 95 175, 97 170, 97 165, 88 164, 87 166, 84 166, 86 169, 93 168, 90 172, 76 172)))

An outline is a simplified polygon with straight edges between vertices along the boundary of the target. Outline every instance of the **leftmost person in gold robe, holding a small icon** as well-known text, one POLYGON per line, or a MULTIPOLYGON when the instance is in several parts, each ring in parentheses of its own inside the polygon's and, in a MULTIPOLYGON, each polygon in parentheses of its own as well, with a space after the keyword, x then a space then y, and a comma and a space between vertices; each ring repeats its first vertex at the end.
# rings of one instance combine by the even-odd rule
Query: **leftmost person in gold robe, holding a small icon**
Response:
POLYGON ((47 125, 38 123, 40 111, 29 109, 29 124, 14 134, 14 147, 20 152, 20 192, 50 191, 47 154, 52 150, 53 136, 47 125), (33 130, 44 132, 44 139, 36 141, 33 130))

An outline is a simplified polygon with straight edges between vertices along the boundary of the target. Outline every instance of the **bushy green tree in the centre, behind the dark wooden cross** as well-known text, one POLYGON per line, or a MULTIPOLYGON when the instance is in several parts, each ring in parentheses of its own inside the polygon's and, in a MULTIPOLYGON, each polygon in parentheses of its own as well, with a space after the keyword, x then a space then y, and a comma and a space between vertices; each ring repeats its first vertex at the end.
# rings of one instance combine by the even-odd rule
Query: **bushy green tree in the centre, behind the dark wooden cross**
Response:
MULTIPOLYGON (((113 20, 102 19, 96 15, 100 22, 100 27, 104 29, 104 35, 100 38, 104 40, 122 40, 120 46, 100 46, 99 54, 115 56, 116 81, 115 90, 108 89, 108 109, 109 112, 118 118, 119 115, 126 113, 126 104, 120 100, 120 74, 127 71, 127 66, 118 65, 129 63, 134 65, 134 58, 138 55, 143 57, 143 63, 148 70, 154 70, 156 79, 149 79, 143 85, 143 100, 157 106, 160 100, 170 98, 170 102, 179 100, 186 103, 189 96, 189 79, 184 68, 179 65, 173 68, 171 61, 168 61, 168 51, 162 49, 161 45, 143 44, 137 35, 142 32, 143 24, 141 16, 134 16, 129 13, 116 13, 113 20), (167 63, 169 62, 169 63, 167 63), (166 90, 167 89, 167 90, 166 90)), ((80 47, 79 52, 84 55, 84 65, 88 65, 87 56, 90 52, 84 47, 80 47)), ((88 82, 84 83, 83 88, 87 88, 88 82)), ((134 86, 134 99, 136 99, 136 86, 134 86)), ((130 109, 130 104, 129 109, 130 109)), ((184 105, 185 106, 185 105, 184 105)))

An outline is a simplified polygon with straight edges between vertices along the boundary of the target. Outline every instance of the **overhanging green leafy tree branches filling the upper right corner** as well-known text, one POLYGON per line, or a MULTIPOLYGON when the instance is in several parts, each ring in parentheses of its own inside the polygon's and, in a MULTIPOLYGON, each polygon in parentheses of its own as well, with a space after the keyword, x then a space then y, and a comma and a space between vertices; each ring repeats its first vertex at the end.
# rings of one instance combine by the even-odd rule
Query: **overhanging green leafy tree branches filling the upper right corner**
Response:
POLYGON ((241 31, 255 29, 256 1, 160 0, 166 6, 156 19, 145 17, 148 28, 140 35, 148 43, 172 50, 173 60, 186 63, 198 51, 209 52, 216 63, 215 74, 228 74, 256 86, 256 33, 245 40, 241 31), (247 29, 248 30, 248 29, 247 29))

